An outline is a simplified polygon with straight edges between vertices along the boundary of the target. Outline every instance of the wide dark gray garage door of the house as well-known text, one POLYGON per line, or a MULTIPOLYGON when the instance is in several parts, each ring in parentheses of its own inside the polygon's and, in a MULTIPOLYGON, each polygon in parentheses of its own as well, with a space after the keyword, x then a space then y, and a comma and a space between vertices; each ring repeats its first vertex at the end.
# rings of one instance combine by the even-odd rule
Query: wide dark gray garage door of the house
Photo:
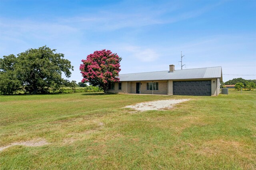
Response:
POLYGON ((211 96, 211 81, 173 82, 173 94, 185 96, 211 96))

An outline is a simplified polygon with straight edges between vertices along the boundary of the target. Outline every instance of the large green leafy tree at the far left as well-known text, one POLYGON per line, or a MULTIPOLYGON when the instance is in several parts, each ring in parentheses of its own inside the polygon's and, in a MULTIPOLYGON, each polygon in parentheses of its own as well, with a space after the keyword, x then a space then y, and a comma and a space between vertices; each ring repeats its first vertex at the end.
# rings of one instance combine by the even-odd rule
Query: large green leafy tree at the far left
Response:
POLYGON ((69 78, 73 66, 70 61, 63 59, 64 54, 55 51, 43 46, 28 49, 17 57, 4 56, 0 61, 1 92, 12 94, 20 88, 31 94, 48 93, 68 84, 62 74, 69 78), (10 84, 11 90, 5 90, 6 84, 10 84))

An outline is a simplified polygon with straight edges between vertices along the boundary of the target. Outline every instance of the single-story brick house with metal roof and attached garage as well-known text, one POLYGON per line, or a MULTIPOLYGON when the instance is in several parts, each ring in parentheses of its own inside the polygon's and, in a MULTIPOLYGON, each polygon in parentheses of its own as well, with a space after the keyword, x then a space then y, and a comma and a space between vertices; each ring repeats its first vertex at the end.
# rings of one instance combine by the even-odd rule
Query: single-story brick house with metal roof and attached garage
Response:
POLYGON ((218 96, 222 67, 120 74, 118 83, 109 84, 108 93, 218 96))

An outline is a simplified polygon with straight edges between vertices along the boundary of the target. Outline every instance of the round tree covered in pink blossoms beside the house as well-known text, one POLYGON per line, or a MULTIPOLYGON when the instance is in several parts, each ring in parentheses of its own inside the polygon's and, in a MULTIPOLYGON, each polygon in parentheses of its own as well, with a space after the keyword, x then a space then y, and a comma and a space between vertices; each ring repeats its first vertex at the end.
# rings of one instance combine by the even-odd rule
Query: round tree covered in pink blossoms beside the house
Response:
POLYGON ((122 58, 110 50, 94 51, 93 54, 86 57, 86 60, 82 60, 83 64, 80 64, 80 71, 84 77, 82 82, 99 86, 106 94, 108 84, 119 82, 121 60, 122 58))

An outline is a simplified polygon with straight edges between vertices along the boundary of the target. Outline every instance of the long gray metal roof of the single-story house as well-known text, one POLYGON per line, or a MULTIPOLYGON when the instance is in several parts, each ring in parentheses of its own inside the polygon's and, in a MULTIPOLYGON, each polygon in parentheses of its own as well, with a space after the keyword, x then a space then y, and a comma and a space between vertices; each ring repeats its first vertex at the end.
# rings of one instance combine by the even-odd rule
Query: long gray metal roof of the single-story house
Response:
POLYGON ((221 78, 222 68, 207 67, 193 68, 184 70, 140 72, 131 74, 120 74, 120 81, 146 81, 146 80, 180 80, 180 79, 198 79, 198 78, 221 78))

